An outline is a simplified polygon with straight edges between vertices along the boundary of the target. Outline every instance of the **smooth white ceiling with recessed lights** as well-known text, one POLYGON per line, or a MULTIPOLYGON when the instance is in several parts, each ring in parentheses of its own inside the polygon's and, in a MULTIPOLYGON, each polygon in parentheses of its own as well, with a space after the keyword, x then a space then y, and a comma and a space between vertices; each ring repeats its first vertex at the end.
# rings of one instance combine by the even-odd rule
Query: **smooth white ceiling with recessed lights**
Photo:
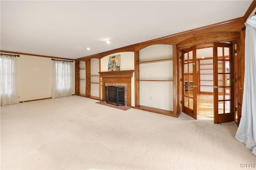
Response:
POLYGON ((238 18, 251 3, 1 0, 1 50, 76 59, 238 18))

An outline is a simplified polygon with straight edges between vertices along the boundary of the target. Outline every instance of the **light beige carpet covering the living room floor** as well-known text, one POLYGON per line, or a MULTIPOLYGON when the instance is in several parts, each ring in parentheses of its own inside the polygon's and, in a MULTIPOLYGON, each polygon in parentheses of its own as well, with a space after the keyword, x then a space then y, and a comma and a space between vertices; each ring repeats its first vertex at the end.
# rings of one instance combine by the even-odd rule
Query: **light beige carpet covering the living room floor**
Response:
POLYGON ((1 107, 2 169, 248 169, 235 123, 214 124, 71 96, 1 107))

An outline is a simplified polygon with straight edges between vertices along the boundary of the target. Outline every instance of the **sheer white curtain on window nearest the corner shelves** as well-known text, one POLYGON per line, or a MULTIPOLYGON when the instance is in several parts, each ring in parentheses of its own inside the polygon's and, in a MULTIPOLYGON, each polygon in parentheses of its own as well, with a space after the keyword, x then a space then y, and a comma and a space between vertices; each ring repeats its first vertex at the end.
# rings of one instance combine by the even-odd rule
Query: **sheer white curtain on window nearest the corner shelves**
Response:
POLYGON ((52 98, 72 95, 72 63, 53 60, 52 98))

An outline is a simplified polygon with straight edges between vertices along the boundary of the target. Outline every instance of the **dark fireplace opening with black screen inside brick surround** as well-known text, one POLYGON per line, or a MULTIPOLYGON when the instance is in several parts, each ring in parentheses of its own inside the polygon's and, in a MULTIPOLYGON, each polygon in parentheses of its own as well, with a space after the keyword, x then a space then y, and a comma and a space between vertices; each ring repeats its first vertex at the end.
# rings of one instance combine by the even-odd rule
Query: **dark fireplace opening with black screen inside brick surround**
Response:
POLYGON ((116 106, 125 106, 124 88, 124 86, 106 86, 106 103, 116 106))

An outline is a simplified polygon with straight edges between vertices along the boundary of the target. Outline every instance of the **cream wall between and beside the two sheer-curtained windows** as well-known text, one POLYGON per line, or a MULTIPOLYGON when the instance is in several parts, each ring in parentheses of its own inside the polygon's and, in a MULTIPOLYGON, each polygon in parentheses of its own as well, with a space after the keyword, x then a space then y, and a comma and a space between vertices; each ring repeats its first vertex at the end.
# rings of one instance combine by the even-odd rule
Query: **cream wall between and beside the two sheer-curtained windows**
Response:
MULTIPOLYGON (((16 57, 20 101, 43 99, 52 96, 52 60, 48 57, 20 55, 16 57)), ((74 70, 74 62, 73 69, 74 70)), ((72 73, 75 93, 75 71, 72 73)))

